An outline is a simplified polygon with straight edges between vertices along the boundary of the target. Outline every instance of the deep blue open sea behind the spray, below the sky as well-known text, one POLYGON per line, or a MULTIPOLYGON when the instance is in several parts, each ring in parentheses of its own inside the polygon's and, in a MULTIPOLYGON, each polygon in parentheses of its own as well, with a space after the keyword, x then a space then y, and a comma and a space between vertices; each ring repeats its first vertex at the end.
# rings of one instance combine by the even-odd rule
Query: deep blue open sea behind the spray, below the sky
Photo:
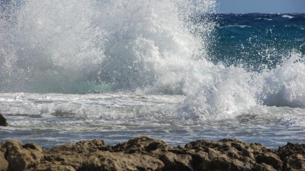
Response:
POLYGON ((211 60, 259 71, 282 63, 291 52, 305 54, 305 14, 217 14, 211 60))

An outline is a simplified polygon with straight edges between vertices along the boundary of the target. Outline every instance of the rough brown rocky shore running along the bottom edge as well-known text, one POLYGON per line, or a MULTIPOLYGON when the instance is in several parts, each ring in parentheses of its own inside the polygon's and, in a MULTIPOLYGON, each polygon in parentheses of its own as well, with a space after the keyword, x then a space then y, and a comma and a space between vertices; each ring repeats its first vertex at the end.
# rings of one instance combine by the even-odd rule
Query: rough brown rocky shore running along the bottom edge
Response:
POLYGON ((42 150, 34 143, 0 143, 4 170, 305 170, 305 144, 268 149, 238 140, 198 140, 168 146, 144 136, 116 146, 103 140, 82 141, 42 150))

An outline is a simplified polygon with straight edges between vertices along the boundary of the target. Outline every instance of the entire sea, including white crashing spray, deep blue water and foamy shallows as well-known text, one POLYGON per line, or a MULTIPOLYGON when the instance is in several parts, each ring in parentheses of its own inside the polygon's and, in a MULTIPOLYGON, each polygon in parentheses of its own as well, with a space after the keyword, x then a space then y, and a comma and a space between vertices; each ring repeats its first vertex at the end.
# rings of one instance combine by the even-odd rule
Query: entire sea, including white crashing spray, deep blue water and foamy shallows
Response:
POLYGON ((0 140, 305 143, 305 14, 216 14, 212 0, 0 7, 0 140))

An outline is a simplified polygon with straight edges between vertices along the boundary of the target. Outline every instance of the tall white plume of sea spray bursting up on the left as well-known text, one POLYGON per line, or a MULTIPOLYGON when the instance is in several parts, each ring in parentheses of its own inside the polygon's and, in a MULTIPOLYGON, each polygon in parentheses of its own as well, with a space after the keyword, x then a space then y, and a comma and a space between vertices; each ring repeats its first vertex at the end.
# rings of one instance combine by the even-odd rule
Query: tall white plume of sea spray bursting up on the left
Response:
POLYGON ((194 27, 189 15, 214 6, 214 1, 13 1, 1 15, 6 79, 1 90, 79 93, 86 89, 71 87, 87 81, 111 85, 112 91, 142 89, 162 75, 155 66, 163 59, 189 60, 208 45, 203 38, 214 22, 205 19, 209 27, 194 27), (192 35, 195 29, 201 38, 192 35))

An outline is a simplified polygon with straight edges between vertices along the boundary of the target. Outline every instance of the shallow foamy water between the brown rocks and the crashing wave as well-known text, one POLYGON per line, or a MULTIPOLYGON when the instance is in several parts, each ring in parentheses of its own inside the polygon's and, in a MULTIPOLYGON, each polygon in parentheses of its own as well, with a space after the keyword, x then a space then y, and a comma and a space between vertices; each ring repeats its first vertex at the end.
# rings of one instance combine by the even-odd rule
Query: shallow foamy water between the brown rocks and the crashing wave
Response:
POLYGON ((179 115, 182 95, 0 94, 0 110, 9 121, 2 140, 35 142, 43 148, 80 140, 107 144, 146 135, 171 145, 197 139, 239 139, 277 148, 305 143, 305 109, 254 107, 222 120, 186 120, 179 115), (258 109, 256 109, 258 108, 258 109), (255 111, 264 111, 255 114, 255 111))

